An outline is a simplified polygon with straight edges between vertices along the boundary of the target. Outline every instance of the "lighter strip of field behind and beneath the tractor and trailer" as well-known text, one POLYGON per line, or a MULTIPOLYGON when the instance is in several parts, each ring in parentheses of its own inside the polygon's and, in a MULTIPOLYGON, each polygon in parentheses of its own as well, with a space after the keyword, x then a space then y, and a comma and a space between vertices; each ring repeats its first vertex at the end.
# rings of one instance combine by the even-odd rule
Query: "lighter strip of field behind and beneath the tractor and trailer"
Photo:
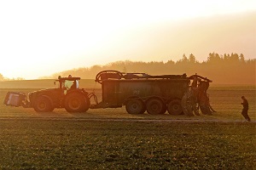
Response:
MULTIPOLYGON (((12 91, 22 91, 28 93, 34 89, 11 89, 12 91)), ((5 94, 10 89, 0 90, 0 99, 3 101, 5 94)), ((90 90, 89 90, 90 91, 90 90)), ((97 89, 96 95, 101 101, 101 90, 97 89)), ((247 96, 249 102, 248 115, 252 122, 256 122, 256 88, 255 86, 241 87, 211 87, 208 91, 210 103, 217 112, 201 116, 169 115, 149 115, 147 112, 141 115, 130 115, 122 108, 90 109, 85 113, 68 113, 65 109, 55 109, 52 112, 37 113, 32 108, 11 107, 0 105, 1 119, 61 119, 61 120, 90 120, 90 121, 115 121, 115 122, 247 122, 241 116, 241 96, 247 96)))

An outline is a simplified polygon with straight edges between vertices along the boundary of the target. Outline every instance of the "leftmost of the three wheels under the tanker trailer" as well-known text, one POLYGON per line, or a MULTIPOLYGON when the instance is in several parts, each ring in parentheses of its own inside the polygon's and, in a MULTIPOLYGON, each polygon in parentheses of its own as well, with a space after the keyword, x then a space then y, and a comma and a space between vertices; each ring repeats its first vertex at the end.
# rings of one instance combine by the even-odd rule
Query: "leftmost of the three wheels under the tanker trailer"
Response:
POLYGON ((129 99, 125 109, 129 114, 143 114, 146 111, 146 106, 141 99, 129 99))

